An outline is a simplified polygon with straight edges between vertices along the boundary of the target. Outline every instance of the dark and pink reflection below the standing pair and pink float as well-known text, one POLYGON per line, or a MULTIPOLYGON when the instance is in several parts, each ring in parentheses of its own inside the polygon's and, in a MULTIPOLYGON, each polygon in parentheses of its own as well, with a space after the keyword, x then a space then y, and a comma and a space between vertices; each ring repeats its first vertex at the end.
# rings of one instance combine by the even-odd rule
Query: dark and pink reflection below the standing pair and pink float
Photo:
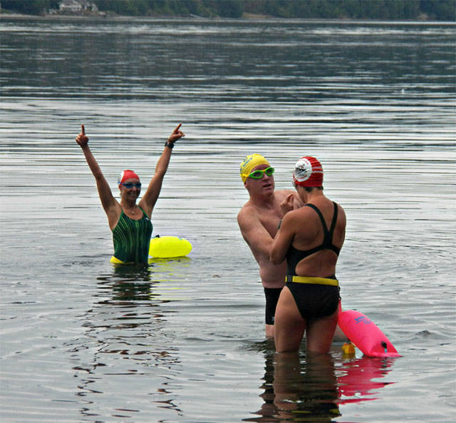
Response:
POLYGON ((389 384, 373 379, 390 372, 393 359, 336 360, 331 354, 265 353, 264 400, 244 422, 333 422, 341 404, 375 399, 389 384))

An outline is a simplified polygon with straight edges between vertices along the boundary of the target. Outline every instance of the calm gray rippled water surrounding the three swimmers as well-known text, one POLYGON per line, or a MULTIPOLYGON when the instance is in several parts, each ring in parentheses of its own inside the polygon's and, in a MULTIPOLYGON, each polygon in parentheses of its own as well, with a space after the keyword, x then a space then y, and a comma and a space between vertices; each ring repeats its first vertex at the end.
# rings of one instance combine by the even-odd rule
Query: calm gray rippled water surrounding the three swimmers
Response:
POLYGON ((455 421, 455 25, 2 17, 0 36, 2 423, 455 421), (181 121, 152 220, 192 253, 115 268, 74 136, 115 190, 181 121), (321 160, 343 307, 403 357, 274 355, 236 222, 254 152, 277 188, 321 160))

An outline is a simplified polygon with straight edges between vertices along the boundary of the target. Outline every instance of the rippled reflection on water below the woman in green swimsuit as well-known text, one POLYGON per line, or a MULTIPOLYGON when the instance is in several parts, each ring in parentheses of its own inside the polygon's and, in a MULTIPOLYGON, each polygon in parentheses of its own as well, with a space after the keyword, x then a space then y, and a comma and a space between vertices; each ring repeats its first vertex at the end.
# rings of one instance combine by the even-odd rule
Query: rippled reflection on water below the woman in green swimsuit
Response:
MULTIPOLYGON (((190 260, 190 259, 187 259, 190 260)), ((118 377, 149 376, 147 395, 157 408, 180 412, 173 403, 170 376, 180 372, 179 348, 173 346, 166 329, 167 314, 160 308, 175 301, 160 292, 160 285, 172 282, 170 275, 182 272, 187 262, 151 260, 149 265, 113 265, 112 272, 97 278, 93 306, 79 316, 83 336, 66 344, 78 380, 78 397, 86 398, 84 417, 97 412, 92 394, 108 393, 118 377), (110 368, 115 365, 115 373, 110 368), (106 379, 106 376, 114 379, 106 379)), ((121 389, 120 389, 121 390, 121 389)), ((116 408, 114 417, 132 417, 135 409, 116 408), (125 414, 126 413, 126 414, 125 414)))

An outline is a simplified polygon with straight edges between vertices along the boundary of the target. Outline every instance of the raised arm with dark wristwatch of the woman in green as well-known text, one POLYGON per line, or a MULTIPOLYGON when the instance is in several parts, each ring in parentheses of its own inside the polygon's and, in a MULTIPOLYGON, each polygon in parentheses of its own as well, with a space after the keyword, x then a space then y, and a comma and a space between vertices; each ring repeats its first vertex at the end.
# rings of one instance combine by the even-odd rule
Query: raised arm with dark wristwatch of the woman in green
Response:
POLYGON ((174 147, 174 143, 185 136, 185 133, 180 131, 180 127, 182 123, 176 126, 175 130, 172 131, 171 135, 168 137, 165 148, 163 148, 162 155, 157 161, 157 165, 155 166, 155 173, 150 180, 149 186, 138 205, 145 211, 145 213, 149 216, 152 215, 152 210, 157 203, 158 195, 160 195, 160 190, 162 189, 162 182, 163 178, 165 177, 165 173, 167 171, 168 165, 170 163, 172 148, 174 147))

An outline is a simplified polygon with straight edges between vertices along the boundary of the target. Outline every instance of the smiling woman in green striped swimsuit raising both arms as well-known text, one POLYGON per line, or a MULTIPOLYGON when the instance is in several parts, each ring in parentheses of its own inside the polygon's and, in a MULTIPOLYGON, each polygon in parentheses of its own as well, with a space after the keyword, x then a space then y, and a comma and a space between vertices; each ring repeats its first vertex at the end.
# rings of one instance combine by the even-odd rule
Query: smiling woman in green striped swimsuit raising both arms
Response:
POLYGON ((123 170, 118 180, 120 202, 116 200, 109 188, 100 166, 88 147, 88 137, 81 125, 81 133, 76 143, 81 146, 90 170, 95 177, 101 204, 108 216, 110 230, 113 231, 114 255, 111 263, 147 263, 149 254, 152 222, 150 216, 162 188, 168 164, 170 163, 174 143, 185 136, 180 131, 180 123, 165 142, 165 148, 155 166, 155 173, 149 186, 136 204, 141 192, 141 183, 133 170, 123 170))

